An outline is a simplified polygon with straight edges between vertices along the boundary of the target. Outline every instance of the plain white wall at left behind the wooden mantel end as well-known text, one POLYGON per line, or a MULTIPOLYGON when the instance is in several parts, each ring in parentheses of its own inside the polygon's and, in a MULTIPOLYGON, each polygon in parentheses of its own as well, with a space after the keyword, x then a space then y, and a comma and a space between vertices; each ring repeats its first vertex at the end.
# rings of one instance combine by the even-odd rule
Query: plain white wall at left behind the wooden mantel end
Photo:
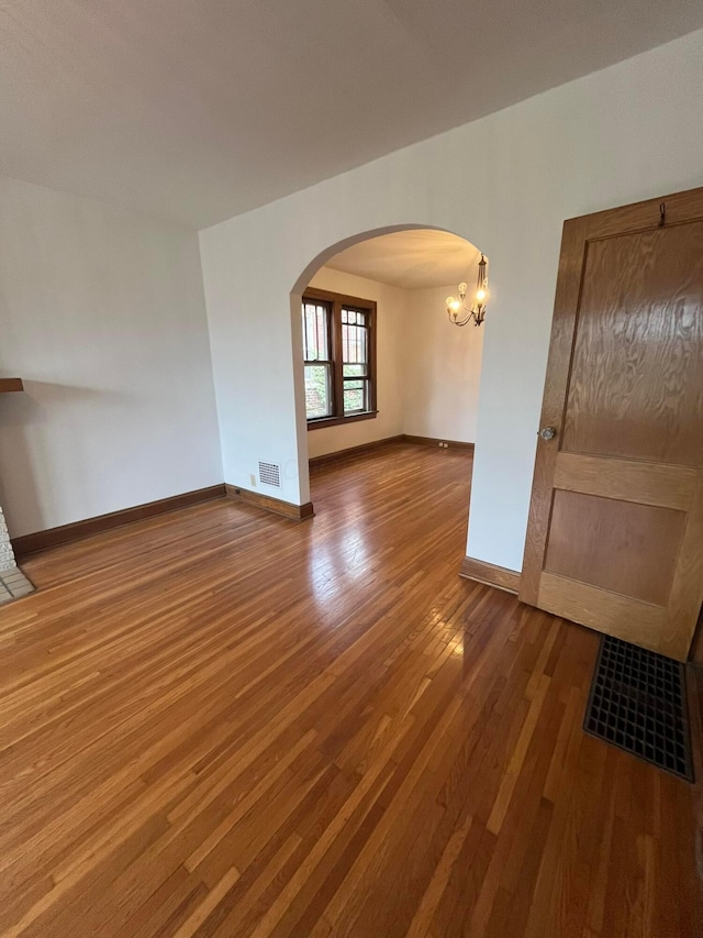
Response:
POLYGON ((194 232, 0 179, 0 375, 13 536, 222 482, 194 232))

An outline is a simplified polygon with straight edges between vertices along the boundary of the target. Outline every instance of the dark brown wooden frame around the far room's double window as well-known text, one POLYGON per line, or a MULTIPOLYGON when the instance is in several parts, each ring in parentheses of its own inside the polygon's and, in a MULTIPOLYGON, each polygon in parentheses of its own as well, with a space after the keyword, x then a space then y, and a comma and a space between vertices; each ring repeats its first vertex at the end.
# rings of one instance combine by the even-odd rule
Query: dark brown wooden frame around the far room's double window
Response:
MULTIPOLYGON (((328 329, 332 354, 332 415, 330 417, 312 417, 308 419, 308 429, 320 427, 336 427, 342 423, 355 423, 357 420, 372 420, 377 415, 377 368, 376 368, 376 301, 337 294, 332 290, 321 290, 308 287, 303 291, 302 304, 305 301, 324 302, 330 309, 328 329), (342 309, 365 312, 368 316, 368 410, 344 415, 344 367, 342 352, 342 309)), ((301 307, 302 317, 302 307, 301 307)), ((305 362, 304 364, 309 364, 305 362)), ((303 364, 303 367, 304 367, 303 364)), ((314 364, 314 363, 312 363, 314 364)))

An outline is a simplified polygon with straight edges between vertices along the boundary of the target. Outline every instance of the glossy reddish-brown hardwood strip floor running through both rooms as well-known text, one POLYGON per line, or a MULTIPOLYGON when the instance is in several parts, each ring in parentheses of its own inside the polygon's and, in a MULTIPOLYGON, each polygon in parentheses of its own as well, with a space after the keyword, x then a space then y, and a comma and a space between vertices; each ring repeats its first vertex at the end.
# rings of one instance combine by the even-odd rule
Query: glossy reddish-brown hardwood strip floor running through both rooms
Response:
POLYGON ((316 471, 311 521, 220 500, 24 564, 3 936, 701 935, 698 790, 581 731, 594 633, 458 577, 470 465, 397 445, 316 471))

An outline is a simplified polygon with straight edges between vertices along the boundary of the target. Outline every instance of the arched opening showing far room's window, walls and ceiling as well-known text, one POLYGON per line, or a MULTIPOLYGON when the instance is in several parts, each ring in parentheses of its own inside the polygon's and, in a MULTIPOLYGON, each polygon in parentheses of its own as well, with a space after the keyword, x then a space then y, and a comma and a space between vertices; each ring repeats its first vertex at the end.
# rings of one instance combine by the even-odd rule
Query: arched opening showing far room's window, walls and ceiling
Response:
POLYGON ((301 479, 389 441, 471 453, 486 325, 457 328, 446 298, 467 283, 470 305, 480 257, 451 232, 398 225, 308 265, 291 291, 301 479))

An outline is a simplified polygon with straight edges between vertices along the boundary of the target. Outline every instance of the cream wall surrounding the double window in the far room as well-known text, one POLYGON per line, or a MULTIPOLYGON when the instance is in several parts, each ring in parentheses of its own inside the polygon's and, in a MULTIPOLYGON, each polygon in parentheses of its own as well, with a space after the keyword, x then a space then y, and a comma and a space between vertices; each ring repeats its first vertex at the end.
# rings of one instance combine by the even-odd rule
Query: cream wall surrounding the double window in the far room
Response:
POLYGON ((335 453, 349 446, 359 446, 373 440, 403 433, 403 350, 401 339, 408 308, 408 290, 356 277, 331 267, 323 267, 310 282, 321 290, 376 300, 377 307, 377 407, 373 420, 316 428, 308 431, 308 450, 311 456, 335 453))

